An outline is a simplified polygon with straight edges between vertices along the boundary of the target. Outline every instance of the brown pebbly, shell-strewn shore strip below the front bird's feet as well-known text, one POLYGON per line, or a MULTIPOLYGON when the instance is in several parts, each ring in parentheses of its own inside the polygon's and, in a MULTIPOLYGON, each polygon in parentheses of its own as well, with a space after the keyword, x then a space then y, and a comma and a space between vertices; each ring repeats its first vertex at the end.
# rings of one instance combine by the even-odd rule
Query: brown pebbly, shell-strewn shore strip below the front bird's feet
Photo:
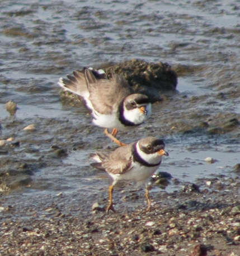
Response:
MULTIPOLYGON (((133 210, 71 211, 56 199, 50 207, 1 207, 1 255, 239 255, 239 177, 209 180, 173 193, 152 193, 133 210), (209 183, 210 184, 210 183, 209 183), (39 208, 40 207, 40 208, 39 208), (45 211, 44 215, 39 215, 45 211), (200 247, 201 246, 201 247, 200 247), (195 250, 196 254, 193 253, 195 250), (198 252, 198 253, 197 253, 198 252)), ((126 200, 126 205, 131 199, 126 200)), ((81 208, 81 207, 79 207, 81 208)))

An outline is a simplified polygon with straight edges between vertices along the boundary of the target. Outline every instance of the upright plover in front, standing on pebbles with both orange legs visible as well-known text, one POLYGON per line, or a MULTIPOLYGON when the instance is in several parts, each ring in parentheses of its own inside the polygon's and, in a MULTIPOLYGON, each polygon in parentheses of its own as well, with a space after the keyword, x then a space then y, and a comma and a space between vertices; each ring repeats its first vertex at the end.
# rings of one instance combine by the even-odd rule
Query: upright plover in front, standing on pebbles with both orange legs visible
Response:
MULTIPOLYGON (((146 184, 148 178, 161 164, 162 156, 168 156, 164 147, 165 144, 161 139, 148 137, 117 148, 110 154, 96 153, 92 156, 96 163, 91 163, 91 166, 105 170, 113 180, 109 186, 107 212, 110 210, 115 212, 112 204, 112 192, 117 182, 126 180, 146 184)), ((148 186, 146 186, 145 195, 148 200, 148 211, 150 209, 148 186)))

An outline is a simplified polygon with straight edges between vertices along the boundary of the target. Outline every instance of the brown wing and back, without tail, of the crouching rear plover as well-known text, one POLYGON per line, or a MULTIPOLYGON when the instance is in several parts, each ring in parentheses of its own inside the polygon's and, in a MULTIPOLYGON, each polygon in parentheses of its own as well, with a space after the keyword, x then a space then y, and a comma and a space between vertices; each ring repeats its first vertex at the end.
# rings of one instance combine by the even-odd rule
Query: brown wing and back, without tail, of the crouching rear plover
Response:
POLYGON ((91 70, 86 70, 89 99, 98 113, 110 114, 117 111, 123 98, 130 94, 130 88, 123 76, 112 75, 111 79, 96 79, 91 70))

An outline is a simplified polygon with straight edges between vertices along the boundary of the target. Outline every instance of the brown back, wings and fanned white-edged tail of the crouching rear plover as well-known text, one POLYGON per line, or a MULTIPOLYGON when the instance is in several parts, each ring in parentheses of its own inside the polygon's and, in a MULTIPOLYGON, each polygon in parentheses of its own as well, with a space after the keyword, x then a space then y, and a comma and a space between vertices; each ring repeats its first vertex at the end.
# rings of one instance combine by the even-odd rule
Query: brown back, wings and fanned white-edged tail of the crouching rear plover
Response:
POLYGON ((112 74, 108 79, 103 70, 91 68, 75 70, 67 78, 61 77, 58 84, 64 90, 83 97, 89 103, 88 107, 92 109, 93 106, 101 114, 116 112, 121 101, 131 93, 123 76, 112 74))

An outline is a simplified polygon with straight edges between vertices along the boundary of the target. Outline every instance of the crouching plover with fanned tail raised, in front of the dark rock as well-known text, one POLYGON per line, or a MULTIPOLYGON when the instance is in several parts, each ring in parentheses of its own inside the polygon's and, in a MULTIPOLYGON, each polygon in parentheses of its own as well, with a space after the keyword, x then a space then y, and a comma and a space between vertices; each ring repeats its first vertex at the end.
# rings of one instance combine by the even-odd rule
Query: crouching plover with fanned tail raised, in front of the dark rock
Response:
POLYGON ((93 124, 104 127, 105 134, 119 145, 117 130, 126 130, 142 124, 152 112, 147 95, 131 94, 123 76, 112 74, 111 79, 103 70, 83 68, 61 77, 58 84, 73 94, 81 96, 92 111, 93 124), (107 129, 112 129, 111 134, 107 129))

